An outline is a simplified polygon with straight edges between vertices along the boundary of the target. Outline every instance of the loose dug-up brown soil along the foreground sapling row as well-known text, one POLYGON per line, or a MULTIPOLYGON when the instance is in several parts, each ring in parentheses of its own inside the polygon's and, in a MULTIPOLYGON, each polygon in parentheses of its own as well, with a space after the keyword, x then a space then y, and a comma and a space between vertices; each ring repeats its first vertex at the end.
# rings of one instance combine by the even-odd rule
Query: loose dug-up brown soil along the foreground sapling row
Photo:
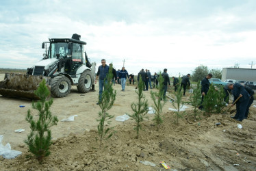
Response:
POLYGON ((187 116, 188 121, 173 124, 175 113, 168 112, 160 131, 151 120, 144 121, 138 140, 133 122, 115 127, 116 133, 102 148, 95 130, 71 133, 53 142, 51 155, 42 165, 25 152, 16 159, 1 158, 1 170, 163 170, 160 161, 174 170, 256 170, 255 117, 251 114, 248 120, 236 122, 221 114, 197 121, 187 116))

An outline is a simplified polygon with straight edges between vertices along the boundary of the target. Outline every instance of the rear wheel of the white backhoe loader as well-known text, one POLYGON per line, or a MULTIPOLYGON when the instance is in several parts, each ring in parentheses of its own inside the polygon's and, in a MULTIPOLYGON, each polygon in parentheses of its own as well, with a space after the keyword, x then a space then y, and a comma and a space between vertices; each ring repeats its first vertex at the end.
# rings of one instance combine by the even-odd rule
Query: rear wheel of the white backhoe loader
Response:
POLYGON ((81 93, 89 92, 92 86, 92 72, 85 70, 81 73, 81 77, 78 80, 77 90, 81 93))

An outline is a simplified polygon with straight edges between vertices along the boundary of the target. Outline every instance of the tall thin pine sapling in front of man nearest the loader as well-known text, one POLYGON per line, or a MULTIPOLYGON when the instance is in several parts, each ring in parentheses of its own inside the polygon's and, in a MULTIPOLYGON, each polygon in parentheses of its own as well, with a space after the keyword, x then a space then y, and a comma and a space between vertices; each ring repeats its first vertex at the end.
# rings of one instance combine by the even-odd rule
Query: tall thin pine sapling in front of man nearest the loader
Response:
POLYGON ((107 111, 112 108, 114 101, 116 100, 116 90, 112 88, 112 69, 113 68, 111 66, 107 74, 107 79, 104 81, 104 90, 101 97, 101 103, 99 104, 101 111, 99 111, 99 119, 97 119, 97 121, 99 122, 98 133, 100 147, 105 136, 107 136, 106 139, 108 139, 113 135, 113 133, 110 133, 110 128, 105 129, 105 123, 107 122, 107 124, 110 124, 110 119, 114 117, 107 113, 107 111))

